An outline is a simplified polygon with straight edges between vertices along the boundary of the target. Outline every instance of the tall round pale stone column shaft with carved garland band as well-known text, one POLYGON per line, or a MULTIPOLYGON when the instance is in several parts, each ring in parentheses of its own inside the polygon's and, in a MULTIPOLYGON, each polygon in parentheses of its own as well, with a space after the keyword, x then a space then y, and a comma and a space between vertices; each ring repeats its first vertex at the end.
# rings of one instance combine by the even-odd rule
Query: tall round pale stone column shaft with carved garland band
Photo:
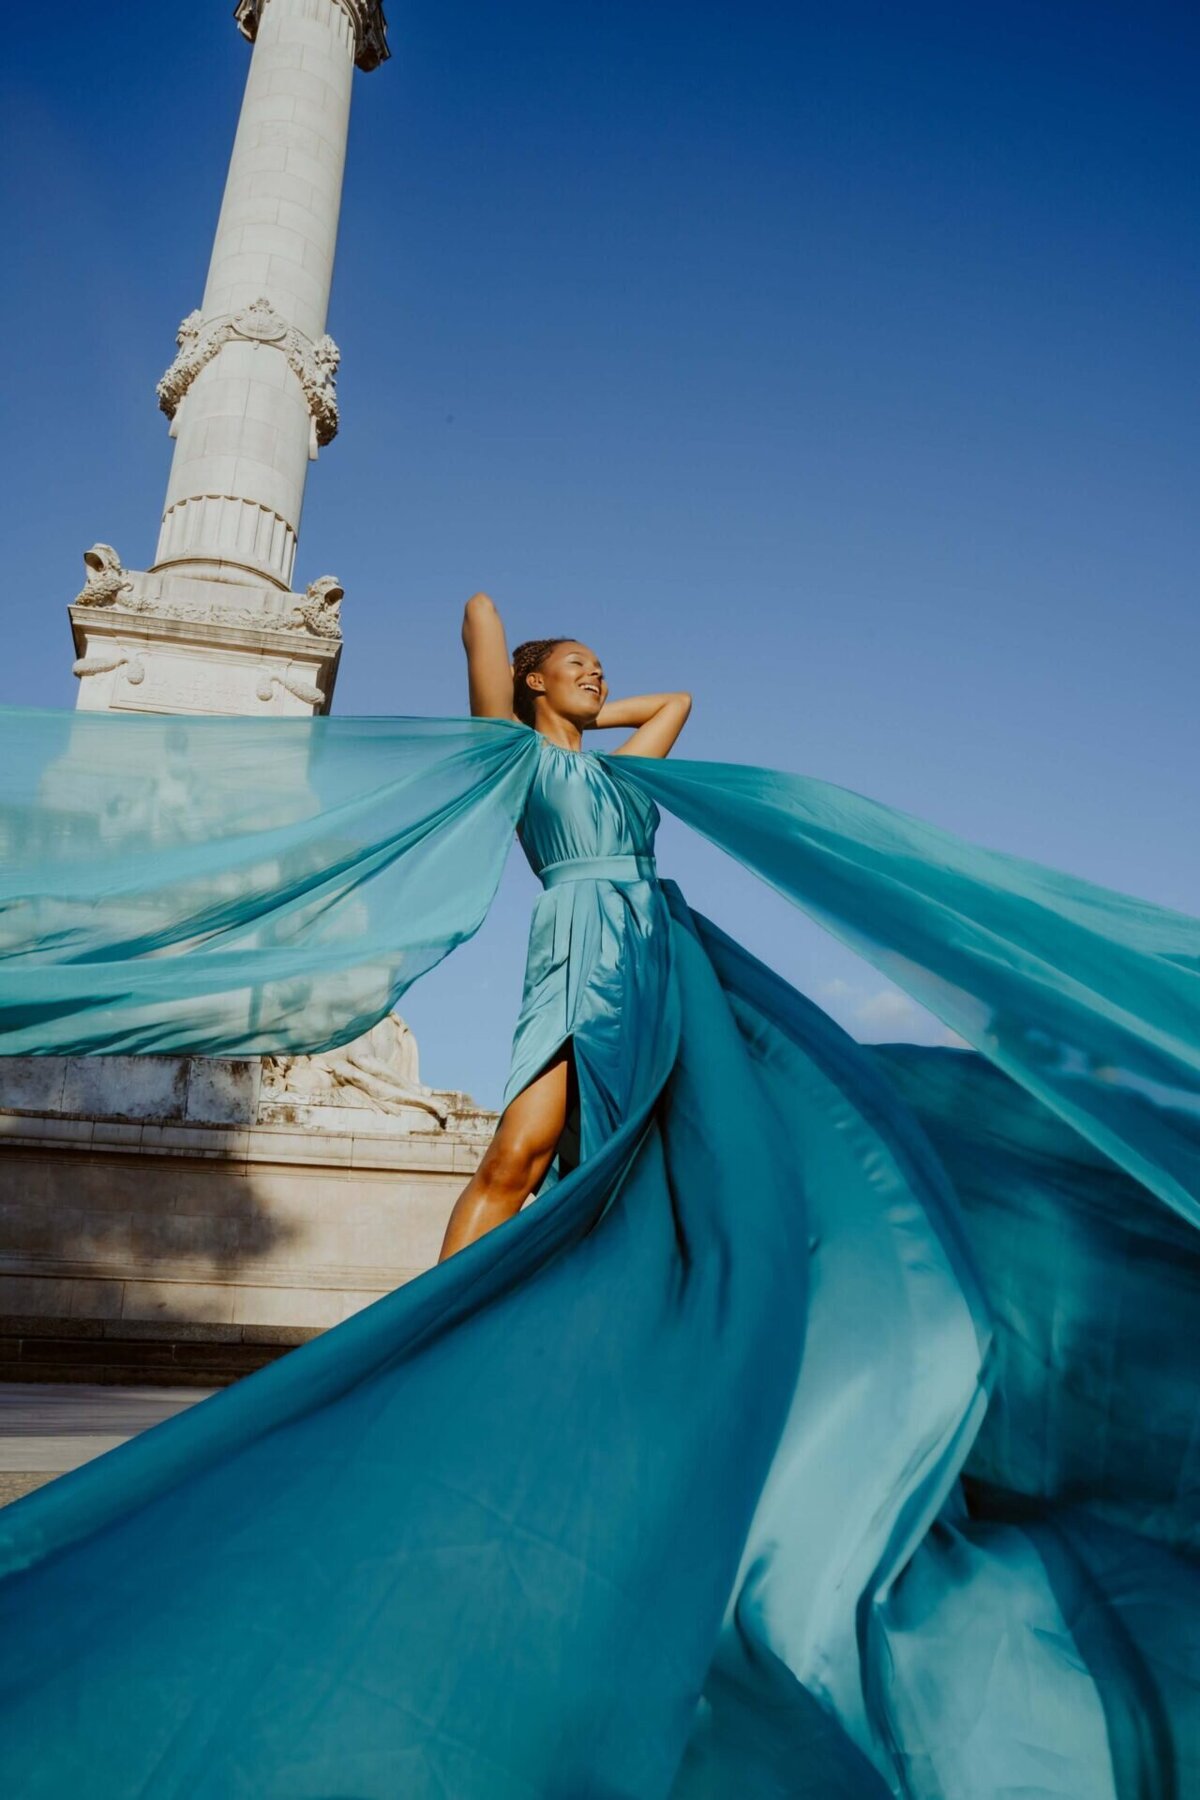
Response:
POLYGON ((158 383, 175 459, 153 571, 288 590, 308 463, 338 428, 326 335, 354 63, 378 0, 241 0, 254 41, 203 302, 158 383))

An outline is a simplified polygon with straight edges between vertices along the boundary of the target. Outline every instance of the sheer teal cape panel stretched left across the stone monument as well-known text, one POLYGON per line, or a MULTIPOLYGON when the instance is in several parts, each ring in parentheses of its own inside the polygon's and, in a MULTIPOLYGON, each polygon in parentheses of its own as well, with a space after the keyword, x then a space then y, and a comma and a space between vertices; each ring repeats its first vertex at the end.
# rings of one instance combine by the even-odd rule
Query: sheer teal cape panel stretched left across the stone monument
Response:
POLYGON ((5 709, 5 1055, 347 1042, 482 923, 534 751, 486 720, 5 709))

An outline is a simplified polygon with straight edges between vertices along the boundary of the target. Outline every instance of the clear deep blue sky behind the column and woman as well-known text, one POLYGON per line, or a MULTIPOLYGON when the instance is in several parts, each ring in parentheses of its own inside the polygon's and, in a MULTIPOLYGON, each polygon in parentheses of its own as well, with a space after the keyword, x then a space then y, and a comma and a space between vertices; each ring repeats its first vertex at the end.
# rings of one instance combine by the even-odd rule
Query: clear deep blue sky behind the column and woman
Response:
MULTIPOLYGON (((342 436, 300 583, 336 707, 464 709, 459 610, 689 686, 685 754, 819 774, 1200 911, 1200 14, 392 0, 356 77, 342 436)), ((228 0, 5 25, 0 698, 74 704, 94 538, 153 554, 155 380, 248 49, 228 0)), ((716 853, 694 905, 862 1037, 937 1030, 716 853)), ((531 877, 405 1003, 495 1102, 531 877)))

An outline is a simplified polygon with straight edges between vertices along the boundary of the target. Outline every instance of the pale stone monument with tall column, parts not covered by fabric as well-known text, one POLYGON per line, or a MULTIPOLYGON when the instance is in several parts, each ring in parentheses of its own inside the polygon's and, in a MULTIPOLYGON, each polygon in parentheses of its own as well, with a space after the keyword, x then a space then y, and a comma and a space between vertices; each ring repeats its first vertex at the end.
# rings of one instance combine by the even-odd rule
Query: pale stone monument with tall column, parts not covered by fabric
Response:
MULTIPOLYGON (((155 562, 94 544, 70 607, 86 711, 333 700, 342 585, 300 585, 295 562, 340 423, 326 311, 354 67, 387 58, 387 27, 378 0, 236 18, 254 50, 209 277, 158 383, 175 454, 155 562)), ((70 751, 47 779, 88 805, 70 751)), ((491 1123, 423 1087, 399 1019, 266 1064, 0 1062, 0 1381, 210 1386, 277 1355, 434 1260, 491 1123)))

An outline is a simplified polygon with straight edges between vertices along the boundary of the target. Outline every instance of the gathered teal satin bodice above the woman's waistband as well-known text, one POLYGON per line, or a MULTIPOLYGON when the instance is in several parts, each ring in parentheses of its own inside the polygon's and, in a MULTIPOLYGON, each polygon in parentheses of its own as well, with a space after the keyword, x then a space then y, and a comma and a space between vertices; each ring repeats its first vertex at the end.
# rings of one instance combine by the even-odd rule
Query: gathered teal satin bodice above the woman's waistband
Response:
POLYGON ((592 857, 649 857, 658 808, 617 783, 594 751, 540 740, 538 770, 516 828, 534 875, 549 864, 592 857))

